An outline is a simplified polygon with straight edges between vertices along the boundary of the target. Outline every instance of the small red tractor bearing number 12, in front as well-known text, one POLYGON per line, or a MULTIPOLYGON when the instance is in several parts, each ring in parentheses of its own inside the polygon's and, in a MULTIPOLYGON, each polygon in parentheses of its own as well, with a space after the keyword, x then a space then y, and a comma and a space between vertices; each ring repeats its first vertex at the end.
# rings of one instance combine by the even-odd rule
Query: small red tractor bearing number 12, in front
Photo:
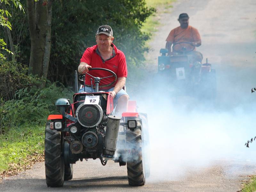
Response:
MULTIPOLYGON (((111 73, 113 84, 117 77, 111 73)), ((90 75, 86 73, 86 75, 90 75)), ((45 176, 48 187, 61 187, 64 180, 73 177, 73 164, 83 159, 99 158, 102 165, 114 160, 120 166, 127 165, 128 183, 142 186, 150 174, 149 137, 147 114, 138 113, 136 101, 129 101, 128 111, 122 117, 114 116, 113 99, 109 92, 99 91, 100 80, 93 77, 94 85, 86 85, 77 78, 73 103, 58 99, 55 103, 58 115, 49 115, 45 127, 45 176), (78 92, 83 86, 94 86, 95 92, 78 92)), ((85 78, 84 78, 85 79, 85 78)))

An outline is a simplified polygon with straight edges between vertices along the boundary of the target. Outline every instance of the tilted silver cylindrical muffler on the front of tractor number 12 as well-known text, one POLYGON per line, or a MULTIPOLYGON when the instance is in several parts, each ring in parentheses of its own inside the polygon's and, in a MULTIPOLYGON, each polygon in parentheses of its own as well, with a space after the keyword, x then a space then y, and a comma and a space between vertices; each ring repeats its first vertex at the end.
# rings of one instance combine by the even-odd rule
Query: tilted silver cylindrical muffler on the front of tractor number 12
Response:
POLYGON ((108 116, 106 136, 104 139, 103 157, 113 158, 116 151, 116 142, 120 125, 120 117, 108 116))

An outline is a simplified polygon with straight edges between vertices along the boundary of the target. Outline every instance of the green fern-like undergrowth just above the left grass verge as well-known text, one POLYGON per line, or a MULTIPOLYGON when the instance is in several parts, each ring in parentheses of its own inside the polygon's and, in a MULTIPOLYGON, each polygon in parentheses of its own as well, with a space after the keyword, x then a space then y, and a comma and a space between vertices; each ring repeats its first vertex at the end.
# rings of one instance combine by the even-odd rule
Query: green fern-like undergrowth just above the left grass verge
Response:
POLYGON ((55 101, 60 97, 71 99, 72 92, 57 83, 48 82, 44 89, 33 86, 18 90, 15 99, 0 105, 0 133, 23 124, 44 124, 49 114, 58 113, 55 101))

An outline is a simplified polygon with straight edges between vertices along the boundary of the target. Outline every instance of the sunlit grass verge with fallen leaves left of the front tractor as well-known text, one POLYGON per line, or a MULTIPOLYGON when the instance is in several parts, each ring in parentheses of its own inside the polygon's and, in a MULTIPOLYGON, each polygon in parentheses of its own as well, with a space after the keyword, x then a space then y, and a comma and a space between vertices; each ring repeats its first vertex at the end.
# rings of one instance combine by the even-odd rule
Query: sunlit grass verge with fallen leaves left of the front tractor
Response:
POLYGON ((44 127, 23 125, 0 135, 0 177, 15 175, 44 160, 44 127))

